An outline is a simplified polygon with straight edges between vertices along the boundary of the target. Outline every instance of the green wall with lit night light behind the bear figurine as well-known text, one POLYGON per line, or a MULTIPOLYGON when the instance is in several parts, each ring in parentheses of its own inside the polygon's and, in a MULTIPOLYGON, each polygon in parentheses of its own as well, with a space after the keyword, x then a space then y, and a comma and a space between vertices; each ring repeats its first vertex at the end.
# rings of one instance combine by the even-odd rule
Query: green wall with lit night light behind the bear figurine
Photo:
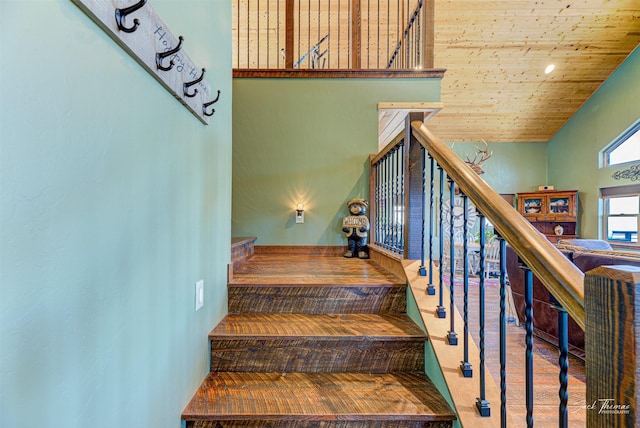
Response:
POLYGON ((439 101, 440 79, 234 79, 233 97, 233 235, 345 245, 347 201, 369 198, 378 103, 439 101))

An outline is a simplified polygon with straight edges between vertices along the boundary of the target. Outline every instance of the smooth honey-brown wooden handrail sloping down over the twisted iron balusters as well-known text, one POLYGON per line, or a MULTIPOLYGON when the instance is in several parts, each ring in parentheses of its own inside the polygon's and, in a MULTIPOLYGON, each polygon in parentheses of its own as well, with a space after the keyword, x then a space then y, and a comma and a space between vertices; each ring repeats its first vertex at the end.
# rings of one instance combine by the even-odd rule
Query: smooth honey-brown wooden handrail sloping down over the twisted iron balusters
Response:
POLYGON ((584 274, 422 121, 413 135, 584 330, 584 274))

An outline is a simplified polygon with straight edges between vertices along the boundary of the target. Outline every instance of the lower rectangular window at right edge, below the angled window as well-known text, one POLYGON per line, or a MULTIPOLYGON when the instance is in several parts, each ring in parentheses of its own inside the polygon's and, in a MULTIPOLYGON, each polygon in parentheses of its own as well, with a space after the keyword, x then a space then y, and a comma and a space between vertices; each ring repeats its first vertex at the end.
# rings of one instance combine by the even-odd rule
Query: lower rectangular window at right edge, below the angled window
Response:
POLYGON ((604 236, 611 243, 638 243, 640 185, 601 189, 604 202, 604 236))

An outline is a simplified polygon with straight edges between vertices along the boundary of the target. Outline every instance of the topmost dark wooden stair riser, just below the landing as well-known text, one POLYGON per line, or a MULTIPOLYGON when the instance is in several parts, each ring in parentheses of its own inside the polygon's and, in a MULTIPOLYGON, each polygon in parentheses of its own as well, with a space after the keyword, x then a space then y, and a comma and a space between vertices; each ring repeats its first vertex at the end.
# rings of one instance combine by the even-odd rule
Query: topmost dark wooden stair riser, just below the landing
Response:
POLYGON ((401 314, 406 286, 234 286, 229 313, 401 314))

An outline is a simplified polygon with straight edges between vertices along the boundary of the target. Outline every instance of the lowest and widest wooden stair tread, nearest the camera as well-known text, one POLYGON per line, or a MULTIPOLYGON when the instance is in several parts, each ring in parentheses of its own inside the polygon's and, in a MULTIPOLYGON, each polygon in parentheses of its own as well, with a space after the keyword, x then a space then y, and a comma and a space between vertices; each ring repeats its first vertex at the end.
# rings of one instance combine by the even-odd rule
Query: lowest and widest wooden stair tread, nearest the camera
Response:
POLYGON ((209 373, 183 420, 414 420, 455 416, 421 373, 209 373))

